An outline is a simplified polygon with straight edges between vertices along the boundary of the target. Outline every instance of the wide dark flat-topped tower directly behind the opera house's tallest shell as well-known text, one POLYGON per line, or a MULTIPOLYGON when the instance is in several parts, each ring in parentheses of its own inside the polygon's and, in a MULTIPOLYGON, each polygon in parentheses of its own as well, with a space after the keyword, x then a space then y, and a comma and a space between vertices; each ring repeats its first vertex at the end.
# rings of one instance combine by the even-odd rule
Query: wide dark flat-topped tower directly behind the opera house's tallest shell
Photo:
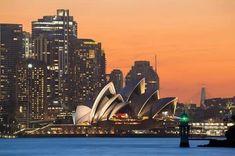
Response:
POLYGON ((135 61, 134 66, 126 76, 126 85, 131 82, 136 82, 145 77, 147 92, 152 92, 159 89, 159 77, 150 66, 149 61, 135 61))

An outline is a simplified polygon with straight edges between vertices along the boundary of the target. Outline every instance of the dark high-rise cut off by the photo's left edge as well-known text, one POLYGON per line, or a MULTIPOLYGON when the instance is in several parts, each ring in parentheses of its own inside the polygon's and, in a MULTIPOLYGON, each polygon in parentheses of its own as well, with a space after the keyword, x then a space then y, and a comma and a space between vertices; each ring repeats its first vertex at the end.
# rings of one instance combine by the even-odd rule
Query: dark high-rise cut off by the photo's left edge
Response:
POLYGON ((0 112, 0 118, 4 133, 12 130, 16 107, 16 64, 22 58, 22 52, 22 25, 0 24, 0 107, 3 112, 0 112))

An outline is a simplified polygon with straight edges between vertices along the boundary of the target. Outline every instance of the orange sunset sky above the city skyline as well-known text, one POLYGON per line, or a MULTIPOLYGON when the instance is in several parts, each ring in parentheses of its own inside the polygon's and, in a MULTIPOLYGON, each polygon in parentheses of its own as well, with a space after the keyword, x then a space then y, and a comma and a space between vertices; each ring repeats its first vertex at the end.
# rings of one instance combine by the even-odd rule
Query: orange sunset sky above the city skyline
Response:
POLYGON ((1 0, 0 23, 23 24, 69 9, 78 36, 102 42, 107 73, 158 58, 161 96, 198 102, 235 96, 235 0, 1 0))

